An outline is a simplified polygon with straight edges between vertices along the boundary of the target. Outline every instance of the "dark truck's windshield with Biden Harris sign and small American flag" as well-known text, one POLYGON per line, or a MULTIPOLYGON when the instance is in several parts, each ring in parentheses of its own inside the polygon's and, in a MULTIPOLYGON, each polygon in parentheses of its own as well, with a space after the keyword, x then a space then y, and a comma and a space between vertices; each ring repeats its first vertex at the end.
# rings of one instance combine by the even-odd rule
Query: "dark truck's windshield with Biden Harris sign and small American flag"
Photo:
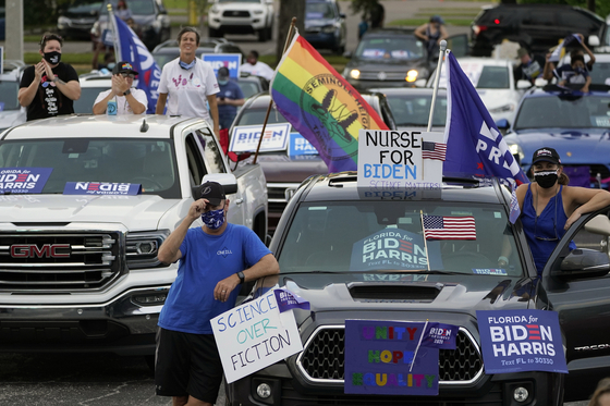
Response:
POLYGON ((500 205, 337 201, 301 205, 278 261, 282 273, 449 272, 517 276, 523 269, 516 253, 512 227, 500 205), (441 239, 424 239, 423 219, 429 233, 438 233, 441 239), (443 229, 439 230, 439 224, 443 229), (466 237, 472 239, 462 239, 466 237), (509 245, 510 266, 498 269, 498 257, 509 245))

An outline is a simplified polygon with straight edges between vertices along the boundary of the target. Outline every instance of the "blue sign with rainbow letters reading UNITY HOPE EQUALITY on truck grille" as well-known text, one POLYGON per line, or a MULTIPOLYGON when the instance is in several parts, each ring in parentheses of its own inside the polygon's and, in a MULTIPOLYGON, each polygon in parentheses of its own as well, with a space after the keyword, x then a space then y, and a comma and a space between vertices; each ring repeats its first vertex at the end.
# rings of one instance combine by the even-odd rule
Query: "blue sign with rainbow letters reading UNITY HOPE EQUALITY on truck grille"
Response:
POLYGON ((415 356, 423 330, 424 323, 345 320, 344 392, 438 395, 439 349, 419 347, 415 356))

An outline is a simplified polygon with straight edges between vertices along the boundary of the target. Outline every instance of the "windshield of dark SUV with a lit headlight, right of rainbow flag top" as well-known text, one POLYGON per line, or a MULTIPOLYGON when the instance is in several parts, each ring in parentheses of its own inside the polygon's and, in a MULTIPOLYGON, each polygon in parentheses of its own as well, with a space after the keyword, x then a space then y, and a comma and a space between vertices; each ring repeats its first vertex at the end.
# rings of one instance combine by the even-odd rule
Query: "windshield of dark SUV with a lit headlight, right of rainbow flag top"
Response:
POLYGON ((354 54, 370 60, 410 60, 424 58, 424 44, 415 37, 365 37, 354 54))

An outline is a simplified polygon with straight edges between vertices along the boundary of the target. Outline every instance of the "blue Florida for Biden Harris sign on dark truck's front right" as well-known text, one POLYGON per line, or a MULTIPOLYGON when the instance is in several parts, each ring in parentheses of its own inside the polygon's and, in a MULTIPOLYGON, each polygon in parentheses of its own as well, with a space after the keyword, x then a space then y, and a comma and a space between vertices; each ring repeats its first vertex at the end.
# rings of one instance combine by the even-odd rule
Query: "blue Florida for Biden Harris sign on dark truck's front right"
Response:
POLYGON ((568 373, 559 318, 545 310, 477 310, 486 373, 568 373))

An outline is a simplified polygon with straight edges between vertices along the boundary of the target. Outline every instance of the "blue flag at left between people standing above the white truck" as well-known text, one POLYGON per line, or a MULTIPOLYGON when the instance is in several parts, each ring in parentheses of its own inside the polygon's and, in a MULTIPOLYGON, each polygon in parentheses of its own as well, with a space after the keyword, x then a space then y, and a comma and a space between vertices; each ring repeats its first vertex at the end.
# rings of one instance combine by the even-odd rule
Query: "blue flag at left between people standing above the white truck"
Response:
POLYGON ((132 28, 115 15, 114 21, 117 42, 120 50, 120 54, 117 56, 117 62, 127 61, 134 66, 134 71, 138 73, 137 88, 144 90, 148 98, 148 110, 146 110, 146 113, 155 114, 157 99, 159 98, 158 88, 161 69, 155 62, 148 48, 146 48, 132 28))

